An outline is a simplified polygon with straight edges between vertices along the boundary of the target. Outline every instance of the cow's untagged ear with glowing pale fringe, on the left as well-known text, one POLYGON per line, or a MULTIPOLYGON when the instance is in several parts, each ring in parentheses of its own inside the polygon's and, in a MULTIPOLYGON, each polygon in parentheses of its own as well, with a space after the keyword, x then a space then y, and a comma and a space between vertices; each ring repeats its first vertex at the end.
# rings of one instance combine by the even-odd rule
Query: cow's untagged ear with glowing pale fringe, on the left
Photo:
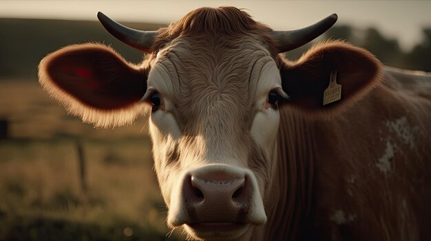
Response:
POLYGON ((43 58, 39 83, 69 113, 106 128, 130 124, 143 113, 148 72, 106 45, 86 43, 43 58))

